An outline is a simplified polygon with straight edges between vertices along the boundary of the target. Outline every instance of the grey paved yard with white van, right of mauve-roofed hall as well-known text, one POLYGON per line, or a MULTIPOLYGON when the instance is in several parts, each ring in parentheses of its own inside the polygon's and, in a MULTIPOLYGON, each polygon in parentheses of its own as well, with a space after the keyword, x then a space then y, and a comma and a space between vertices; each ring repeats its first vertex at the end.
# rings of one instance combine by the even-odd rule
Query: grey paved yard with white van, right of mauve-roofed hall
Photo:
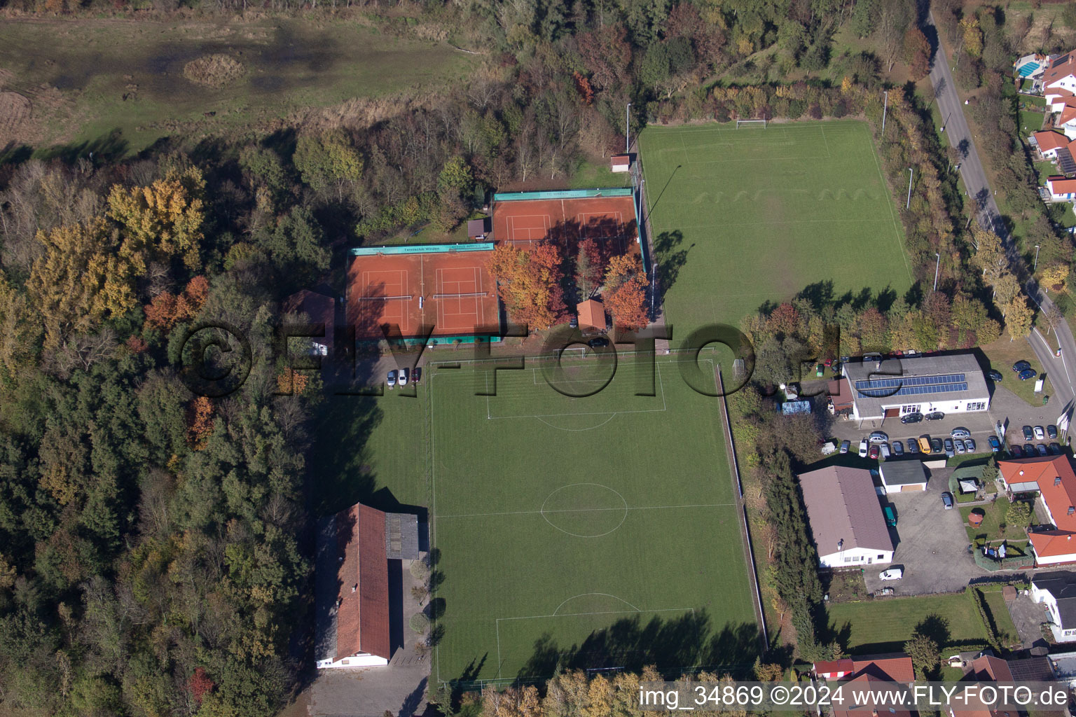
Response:
POLYGON ((882 583, 878 573, 884 567, 870 565, 865 573, 868 590, 888 587, 905 596, 952 592, 987 574, 967 553, 960 511, 942 506, 949 473, 948 469, 931 471, 924 492, 880 497, 883 505, 888 501, 896 512, 896 528, 889 531, 896 546, 891 567, 904 568, 904 577, 882 583))

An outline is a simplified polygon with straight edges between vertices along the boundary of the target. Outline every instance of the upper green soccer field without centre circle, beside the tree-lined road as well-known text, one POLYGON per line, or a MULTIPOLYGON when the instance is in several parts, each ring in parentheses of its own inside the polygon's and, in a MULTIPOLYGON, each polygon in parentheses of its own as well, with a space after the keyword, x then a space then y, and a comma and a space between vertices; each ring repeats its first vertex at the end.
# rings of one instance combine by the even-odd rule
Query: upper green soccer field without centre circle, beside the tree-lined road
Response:
POLYGON ((738 326, 819 282, 911 286, 866 123, 648 127, 639 148, 669 322, 738 326))

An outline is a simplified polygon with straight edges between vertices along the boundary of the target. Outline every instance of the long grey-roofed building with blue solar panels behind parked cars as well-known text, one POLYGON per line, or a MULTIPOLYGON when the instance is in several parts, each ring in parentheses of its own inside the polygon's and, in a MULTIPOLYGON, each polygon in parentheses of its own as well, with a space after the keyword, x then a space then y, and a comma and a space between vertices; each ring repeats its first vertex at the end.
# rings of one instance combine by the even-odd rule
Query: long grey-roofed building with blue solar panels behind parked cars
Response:
POLYGON ((909 413, 974 413, 990 407, 982 369, 972 354, 901 357, 841 364, 860 421, 909 413))

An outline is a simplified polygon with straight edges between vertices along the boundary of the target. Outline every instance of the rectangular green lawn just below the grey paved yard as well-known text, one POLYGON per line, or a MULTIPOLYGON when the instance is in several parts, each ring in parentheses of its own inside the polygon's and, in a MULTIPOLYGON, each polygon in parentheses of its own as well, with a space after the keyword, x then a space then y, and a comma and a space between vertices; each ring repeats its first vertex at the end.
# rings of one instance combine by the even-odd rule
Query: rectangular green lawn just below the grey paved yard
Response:
POLYGON ((902 650, 920 625, 943 649, 979 646, 987 640, 979 612, 965 592, 830 605, 830 622, 848 651, 859 655, 902 650))

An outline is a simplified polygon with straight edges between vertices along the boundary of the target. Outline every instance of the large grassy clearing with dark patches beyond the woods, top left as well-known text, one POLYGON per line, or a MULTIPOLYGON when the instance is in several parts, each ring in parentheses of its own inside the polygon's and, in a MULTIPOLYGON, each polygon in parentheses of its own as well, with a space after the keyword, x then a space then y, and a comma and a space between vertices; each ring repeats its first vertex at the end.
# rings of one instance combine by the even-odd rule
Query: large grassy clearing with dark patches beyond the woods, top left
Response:
POLYGON ((44 130, 37 146, 111 135, 113 148, 133 152, 181 130, 247 131, 352 98, 413 96, 462 78, 475 61, 444 43, 379 35, 345 20, 0 24, 0 69, 12 73, 4 89, 34 101, 44 130), (183 76, 187 63, 216 55, 245 73, 220 88, 183 76), (42 87, 60 99, 38 102, 42 87))

